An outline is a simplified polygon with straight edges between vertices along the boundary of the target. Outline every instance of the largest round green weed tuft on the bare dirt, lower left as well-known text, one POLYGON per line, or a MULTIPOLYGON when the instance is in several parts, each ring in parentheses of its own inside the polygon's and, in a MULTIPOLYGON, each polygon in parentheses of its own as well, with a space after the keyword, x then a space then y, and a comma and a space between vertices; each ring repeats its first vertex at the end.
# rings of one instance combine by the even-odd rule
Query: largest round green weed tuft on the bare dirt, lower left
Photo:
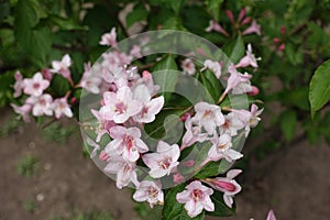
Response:
POLYGON ((33 155, 26 155, 16 164, 16 170, 23 177, 33 177, 40 168, 40 160, 33 155))

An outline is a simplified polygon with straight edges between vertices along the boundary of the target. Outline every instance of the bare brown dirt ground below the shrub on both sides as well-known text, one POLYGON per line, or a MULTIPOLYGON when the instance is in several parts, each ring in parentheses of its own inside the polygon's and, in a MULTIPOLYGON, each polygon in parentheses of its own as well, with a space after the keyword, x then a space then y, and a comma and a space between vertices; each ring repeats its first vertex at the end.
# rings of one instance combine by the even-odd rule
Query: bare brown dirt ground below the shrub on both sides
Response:
MULTIPOLYGON (((0 110, 0 127, 8 117, 0 110)), ((249 147, 249 146, 248 146, 249 147)), ((66 145, 44 141, 34 123, 0 139, 0 220, 51 220, 72 210, 110 211, 117 220, 136 217, 130 190, 119 190, 81 154, 79 133, 66 145), (22 177, 16 164, 26 155, 41 160, 34 177, 22 177), (34 212, 24 205, 36 200, 34 212)), ((252 163, 242 174, 243 191, 235 197, 231 220, 264 220, 270 208, 282 220, 330 219, 330 147, 306 141, 252 163)))

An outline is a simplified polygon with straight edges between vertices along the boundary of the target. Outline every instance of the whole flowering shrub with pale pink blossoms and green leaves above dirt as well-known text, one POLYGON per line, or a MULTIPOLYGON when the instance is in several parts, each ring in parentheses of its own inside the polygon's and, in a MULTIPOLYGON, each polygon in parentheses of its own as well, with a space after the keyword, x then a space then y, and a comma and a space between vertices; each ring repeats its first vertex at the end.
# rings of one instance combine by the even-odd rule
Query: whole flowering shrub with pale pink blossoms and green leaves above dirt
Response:
POLYGON ((311 75, 330 58, 328 0, 0 7, 0 105, 26 122, 77 118, 96 164, 118 188, 135 187, 134 200, 164 205, 163 219, 234 212, 241 170, 230 167, 260 121, 257 99, 280 106, 253 131, 271 133, 257 155, 298 140, 297 124, 310 142, 330 140, 330 114, 317 112, 330 99, 329 62, 308 105, 311 75), (132 36, 145 31, 155 32, 132 36))

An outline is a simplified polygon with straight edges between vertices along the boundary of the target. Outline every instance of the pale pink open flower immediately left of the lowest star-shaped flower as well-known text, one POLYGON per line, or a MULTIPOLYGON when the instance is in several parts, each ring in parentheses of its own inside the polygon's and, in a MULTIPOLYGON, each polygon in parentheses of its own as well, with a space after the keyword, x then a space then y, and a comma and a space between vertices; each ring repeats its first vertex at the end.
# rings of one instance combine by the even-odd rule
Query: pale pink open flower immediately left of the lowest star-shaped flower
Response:
POLYGON ((161 182, 143 180, 133 195, 135 201, 147 201, 150 207, 164 202, 164 193, 161 182))

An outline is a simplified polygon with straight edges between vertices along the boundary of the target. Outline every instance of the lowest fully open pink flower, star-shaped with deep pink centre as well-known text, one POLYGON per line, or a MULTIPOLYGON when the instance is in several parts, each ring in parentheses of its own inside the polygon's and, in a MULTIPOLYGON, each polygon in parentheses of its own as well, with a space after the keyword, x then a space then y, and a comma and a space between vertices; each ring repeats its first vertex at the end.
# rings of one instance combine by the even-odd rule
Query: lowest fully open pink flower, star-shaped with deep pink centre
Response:
POLYGON ((186 190, 176 195, 176 200, 180 204, 185 204, 188 216, 194 218, 200 215, 204 209, 207 211, 215 210, 215 204, 210 198, 210 195, 212 194, 213 189, 195 180, 186 187, 186 190))

